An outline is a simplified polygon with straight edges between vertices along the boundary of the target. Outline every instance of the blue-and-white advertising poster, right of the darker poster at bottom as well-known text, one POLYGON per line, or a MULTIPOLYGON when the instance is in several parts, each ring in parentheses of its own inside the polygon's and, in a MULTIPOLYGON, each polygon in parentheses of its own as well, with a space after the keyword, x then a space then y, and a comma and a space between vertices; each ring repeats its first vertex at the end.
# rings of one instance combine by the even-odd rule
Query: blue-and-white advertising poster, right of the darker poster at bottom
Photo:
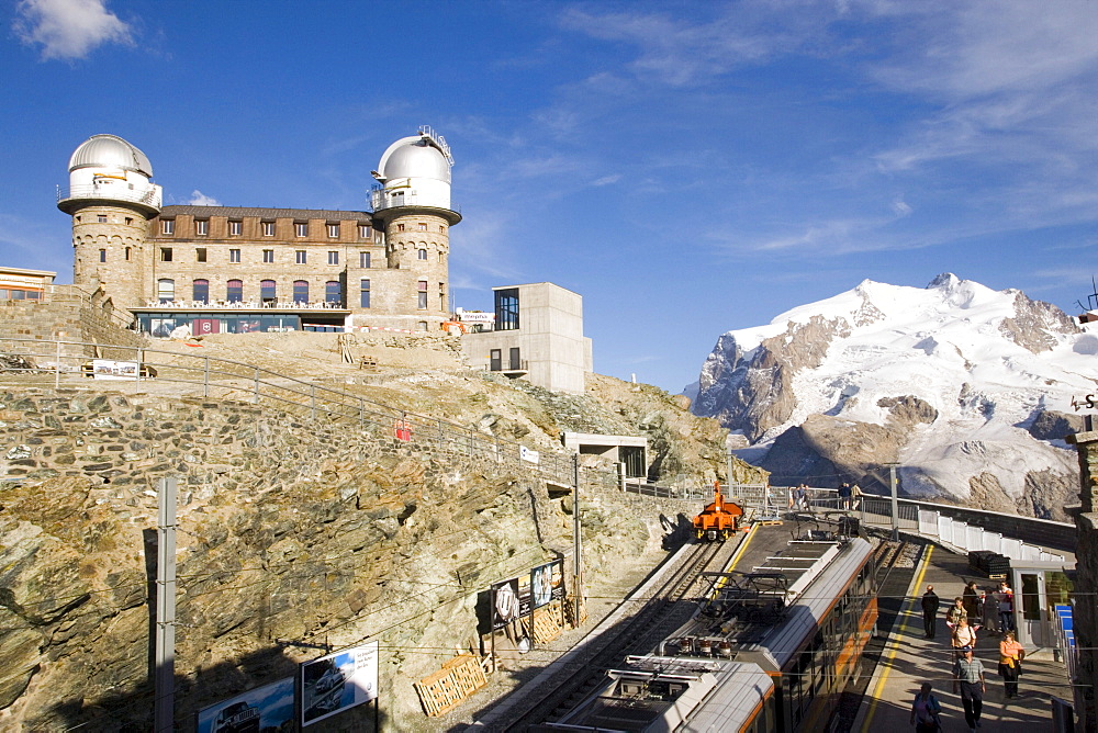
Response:
POLYGON ((378 642, 301 665, 301 724, 311 725, 378 697, 378 642))

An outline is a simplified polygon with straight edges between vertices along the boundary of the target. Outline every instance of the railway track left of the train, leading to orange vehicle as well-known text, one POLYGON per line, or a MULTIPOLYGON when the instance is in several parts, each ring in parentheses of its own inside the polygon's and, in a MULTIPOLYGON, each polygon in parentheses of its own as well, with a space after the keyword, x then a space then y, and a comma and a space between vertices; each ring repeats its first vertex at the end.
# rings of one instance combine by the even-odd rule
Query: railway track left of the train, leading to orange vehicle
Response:
POLYGON ((683 556, 679 557, 677 566, 670 568, 665 578, 641 598, 624 601, 637 604, 634 613, 584 642, 579 656, 527 696, 522 715, 489 730, 520 733, 565 713, 603 684, 605 672, 626 655, 649 651, 688 620, 697 608, 691 600, 699 591, 694 587, 698 576, 707 570, 724 570, 738 545, 738 542, 686 545, 691 549, 681 551, 683 556))

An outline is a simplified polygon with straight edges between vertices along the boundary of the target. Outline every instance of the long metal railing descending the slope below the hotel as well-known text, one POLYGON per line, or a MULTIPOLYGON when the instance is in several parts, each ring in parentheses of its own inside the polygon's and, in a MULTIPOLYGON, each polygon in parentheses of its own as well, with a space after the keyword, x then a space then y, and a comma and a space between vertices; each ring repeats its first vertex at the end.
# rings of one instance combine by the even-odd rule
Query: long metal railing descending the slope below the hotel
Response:
POLYGON ((571 453, 531 451, 520 443, 486 436, 457 422, 399 409, 255 364, 144 347, 19 338, 0 339, 0 354, 24 360, 23 365, 11 359, 9 364, 13 365, 0 366, 0 386, 25 387, 38 382, 58 388, 83 384, 88 379, 103 379, 117 381, 123 390, 134 394, 164 394, 166 390, 159 385, 192 385, 194 396, 276 404, 312 420, 327 418, 357 424, 377 438, 509 462, 552 483, 572 484, 571 453), (107 350, 112 359, 94 360, 65 352, 64 347, 74 346, 107 350))

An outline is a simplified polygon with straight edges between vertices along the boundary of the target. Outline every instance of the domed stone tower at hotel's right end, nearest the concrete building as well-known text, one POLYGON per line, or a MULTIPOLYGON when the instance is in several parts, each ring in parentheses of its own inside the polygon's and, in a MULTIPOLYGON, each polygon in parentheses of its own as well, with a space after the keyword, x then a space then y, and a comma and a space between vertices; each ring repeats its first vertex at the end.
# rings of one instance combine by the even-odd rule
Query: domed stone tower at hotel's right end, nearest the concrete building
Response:
POLYGON ((391 270, 410 272, 401 311, 414 312, 427 328, 450 318, 450 227, 461 214, 450 207, 453 157, 446 140, 429 127, 404 137, 381 156, 373 177, 373 218, 384 227, 391 270))

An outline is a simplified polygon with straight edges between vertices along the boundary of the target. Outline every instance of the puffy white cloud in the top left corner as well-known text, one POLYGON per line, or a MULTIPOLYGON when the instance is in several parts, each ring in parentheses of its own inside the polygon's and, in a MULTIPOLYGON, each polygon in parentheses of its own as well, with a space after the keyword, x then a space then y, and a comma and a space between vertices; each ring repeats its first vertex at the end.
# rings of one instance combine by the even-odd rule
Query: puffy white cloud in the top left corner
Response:
POLYGON ((85 58, 104 43, 133 45, 133 29, 107 9, 107 0, 22 0, 13 24, 42 58, 85 58))

